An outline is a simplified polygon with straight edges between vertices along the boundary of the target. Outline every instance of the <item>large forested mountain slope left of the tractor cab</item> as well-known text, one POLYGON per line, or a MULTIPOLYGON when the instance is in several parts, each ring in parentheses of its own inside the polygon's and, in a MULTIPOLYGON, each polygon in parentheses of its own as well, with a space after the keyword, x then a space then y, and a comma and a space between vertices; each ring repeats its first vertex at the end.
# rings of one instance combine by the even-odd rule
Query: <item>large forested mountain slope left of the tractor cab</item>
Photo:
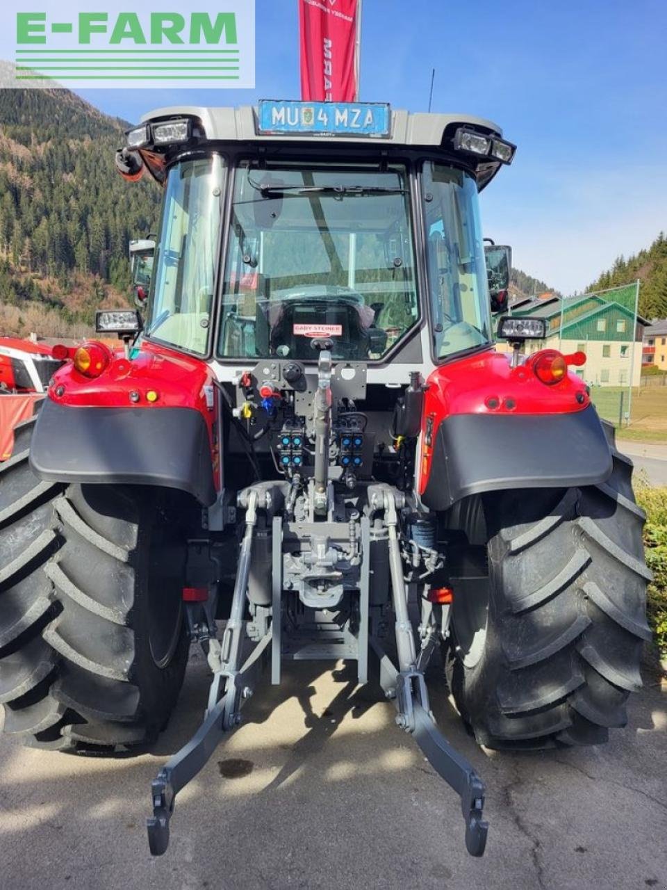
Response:
POLYGON ((114 168, 127 126, 68 90, 0 90, 2 333, 76 336, 127 302, 128 242, 160 199, 114 168))

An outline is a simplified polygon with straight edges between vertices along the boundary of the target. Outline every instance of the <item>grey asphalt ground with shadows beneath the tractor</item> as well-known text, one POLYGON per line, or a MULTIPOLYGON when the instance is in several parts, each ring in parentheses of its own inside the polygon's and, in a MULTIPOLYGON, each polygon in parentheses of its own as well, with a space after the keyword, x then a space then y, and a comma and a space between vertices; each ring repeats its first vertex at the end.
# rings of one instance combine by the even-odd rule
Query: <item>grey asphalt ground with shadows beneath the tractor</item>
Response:
POLYGON ((440 671, 431 703, 485 779, 486 855, 463 844, 458 798, 350 668, 301 663, 261 687, 244 722, 176 803, 149 855, 149 783, 205 707, 193 650, 173 719, 149 753, 82 758, 0 739, 0 886, 517 888, 667 886, 667 685, 645 672, 606 746, 499 754, 466 734, 440 671))

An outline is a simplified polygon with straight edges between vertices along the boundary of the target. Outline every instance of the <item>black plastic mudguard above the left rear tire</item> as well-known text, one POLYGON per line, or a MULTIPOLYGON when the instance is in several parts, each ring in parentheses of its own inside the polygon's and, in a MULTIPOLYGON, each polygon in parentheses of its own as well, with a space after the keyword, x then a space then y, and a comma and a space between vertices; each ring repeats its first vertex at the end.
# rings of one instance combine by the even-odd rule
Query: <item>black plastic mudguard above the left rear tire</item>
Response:
POLYGON ((189 408, 69 408, 46 399, 30 466, 48 481, 160 485, 205 506, 215 500, 205 420, 189 408))

